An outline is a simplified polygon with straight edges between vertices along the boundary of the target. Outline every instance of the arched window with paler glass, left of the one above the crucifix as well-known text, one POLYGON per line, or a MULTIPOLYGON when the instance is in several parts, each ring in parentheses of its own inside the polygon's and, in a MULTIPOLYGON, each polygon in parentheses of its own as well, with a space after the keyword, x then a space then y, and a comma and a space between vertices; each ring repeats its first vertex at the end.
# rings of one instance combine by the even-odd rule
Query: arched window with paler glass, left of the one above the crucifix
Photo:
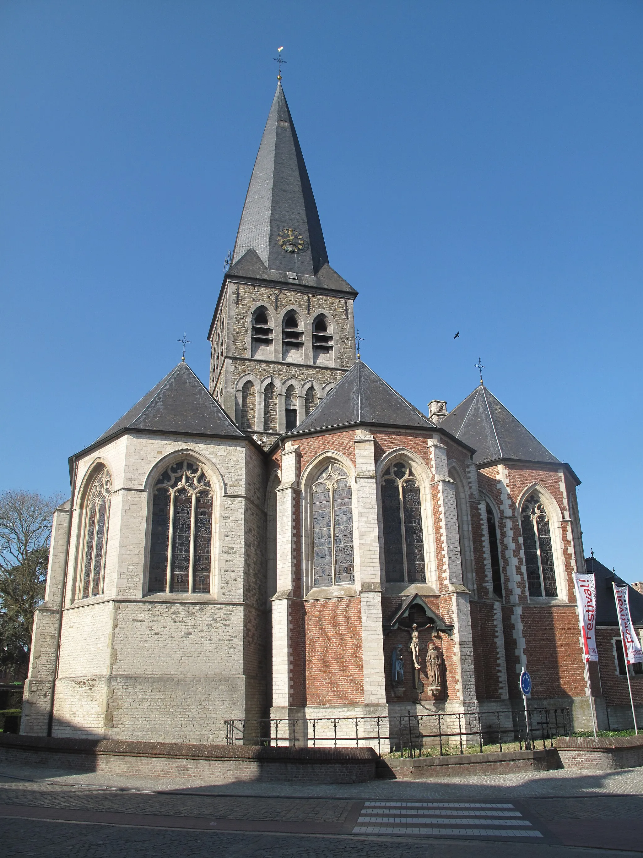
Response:
POLYGON ((312 508, 313 587, 355 583, 351 483, 335 462, 315 480, 312 508))

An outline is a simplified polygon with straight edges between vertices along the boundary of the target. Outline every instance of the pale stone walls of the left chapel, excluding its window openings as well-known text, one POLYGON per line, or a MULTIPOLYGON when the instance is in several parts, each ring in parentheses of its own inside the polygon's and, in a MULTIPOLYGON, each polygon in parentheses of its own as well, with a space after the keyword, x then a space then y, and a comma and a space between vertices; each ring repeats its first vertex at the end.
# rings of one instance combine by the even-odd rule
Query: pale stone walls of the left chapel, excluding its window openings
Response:
MULTIPOLYGON (((46 732, 57 661, 53 735, 210 742, 225 738, 226 717, 266 714, 265 497, 261 453, 244 439, 132 433, 81 458, 59 658, 59 612, 45 607, 23 731, 46 732), (182 458, 200 462, 213 486, 212 590, 147 595, 151 491, 182 458), (84 504, 102 464, 112 476, 105 586, 81 599, 84 504)), ((65 553, 55 532, 48 594, 62 594, 65 553)))

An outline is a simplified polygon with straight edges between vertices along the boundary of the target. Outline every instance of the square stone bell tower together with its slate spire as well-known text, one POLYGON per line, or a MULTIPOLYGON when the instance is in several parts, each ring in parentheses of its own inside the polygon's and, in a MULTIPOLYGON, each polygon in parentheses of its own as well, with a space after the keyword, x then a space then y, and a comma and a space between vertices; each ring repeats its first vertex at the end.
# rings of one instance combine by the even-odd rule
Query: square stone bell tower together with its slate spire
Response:
POLYGON ((328 253, 279 81, 208 333, 210 391, 264 447, 355 361, 357 292, 328 253))

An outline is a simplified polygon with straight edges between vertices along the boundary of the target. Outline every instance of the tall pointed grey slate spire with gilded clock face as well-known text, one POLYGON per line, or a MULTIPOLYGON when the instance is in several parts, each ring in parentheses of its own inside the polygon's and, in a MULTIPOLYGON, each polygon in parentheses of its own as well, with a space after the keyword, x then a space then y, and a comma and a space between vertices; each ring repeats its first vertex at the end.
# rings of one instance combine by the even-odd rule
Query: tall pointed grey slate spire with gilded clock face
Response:
POLYGON ((232 265, 251 248, 273 271, 316 275, 328 264, 315 197, 280 81, 250 178, 232 265))

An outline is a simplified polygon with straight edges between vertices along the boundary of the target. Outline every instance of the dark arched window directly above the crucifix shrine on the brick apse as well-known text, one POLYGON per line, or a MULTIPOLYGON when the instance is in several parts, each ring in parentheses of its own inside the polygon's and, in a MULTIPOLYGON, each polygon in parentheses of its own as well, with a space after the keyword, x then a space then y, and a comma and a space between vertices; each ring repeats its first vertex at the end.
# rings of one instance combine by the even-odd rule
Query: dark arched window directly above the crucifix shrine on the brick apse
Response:
POLYGON ((425 582, 420 486, 406 462, 382 476, 382 529, 387 581, 425 582))

